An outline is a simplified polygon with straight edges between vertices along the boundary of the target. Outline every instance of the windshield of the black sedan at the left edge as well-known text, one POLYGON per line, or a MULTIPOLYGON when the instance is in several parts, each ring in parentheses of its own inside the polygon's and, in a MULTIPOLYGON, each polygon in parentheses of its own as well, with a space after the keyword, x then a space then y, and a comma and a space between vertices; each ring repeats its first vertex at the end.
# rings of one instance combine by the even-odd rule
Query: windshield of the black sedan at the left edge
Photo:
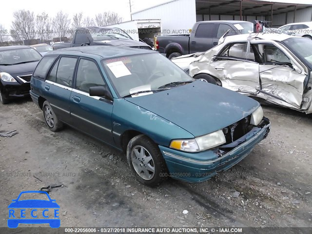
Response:
POLYGON ((33 48, 0 51, 0 64, 14 65, 40 59, 41 55, 33 48))

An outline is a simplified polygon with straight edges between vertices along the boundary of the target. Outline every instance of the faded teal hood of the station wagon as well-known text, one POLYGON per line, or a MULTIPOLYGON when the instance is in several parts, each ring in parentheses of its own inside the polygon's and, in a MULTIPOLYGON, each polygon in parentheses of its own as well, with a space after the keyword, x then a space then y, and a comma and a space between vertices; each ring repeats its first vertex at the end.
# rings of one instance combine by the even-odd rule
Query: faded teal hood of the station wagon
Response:
POLYGON ((249 116, 260 105, 252 98, 199 80, 126 100, 175 123, 195 137, 227 127, 249 116))

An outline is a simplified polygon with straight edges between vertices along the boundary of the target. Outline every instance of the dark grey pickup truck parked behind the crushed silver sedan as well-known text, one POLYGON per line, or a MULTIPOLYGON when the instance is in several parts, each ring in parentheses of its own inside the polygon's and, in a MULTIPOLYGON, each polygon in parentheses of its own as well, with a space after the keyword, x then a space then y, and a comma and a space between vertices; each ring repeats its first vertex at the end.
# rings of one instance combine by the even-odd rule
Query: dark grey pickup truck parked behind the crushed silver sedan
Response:
POLYGON ((254 24, 237 20, 199 21, 190 34, 157 37, 156 48, 168 59, 203 52, 217 45, 228 30, 228 36, 251 33, 254 32, 254 24))

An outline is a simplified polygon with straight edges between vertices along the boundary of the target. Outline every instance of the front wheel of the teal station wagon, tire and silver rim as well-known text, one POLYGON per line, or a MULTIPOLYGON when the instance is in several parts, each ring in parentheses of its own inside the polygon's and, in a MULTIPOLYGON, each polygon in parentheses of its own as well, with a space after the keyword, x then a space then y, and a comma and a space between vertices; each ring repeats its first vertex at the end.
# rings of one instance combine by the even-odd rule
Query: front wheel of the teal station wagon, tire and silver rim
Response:
POLYGON ((127 146, 127 159, 137 181, 144 185, 155 187, 167 178, 166 162, 149 137, 133 137, 127 146))

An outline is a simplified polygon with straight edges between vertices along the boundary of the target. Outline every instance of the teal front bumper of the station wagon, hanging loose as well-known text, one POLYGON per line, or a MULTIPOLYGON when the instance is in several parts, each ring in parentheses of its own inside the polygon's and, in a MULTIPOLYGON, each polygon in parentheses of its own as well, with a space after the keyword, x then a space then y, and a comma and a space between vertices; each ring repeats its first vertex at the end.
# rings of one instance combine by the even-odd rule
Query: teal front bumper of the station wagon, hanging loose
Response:
POLYGON ((217 172, 228 170, 249 155, 254 146, 267 137, 269 132, 270 121, 263 117, 262 122, 254 127, 253 131, 236 140, 239 141, 238 146, 222 156, 216 154, 219 149, 187 153, 159 146, 169 171, 168 175, 163 176, 171 176, 188 182, 208 180, 217 172))

